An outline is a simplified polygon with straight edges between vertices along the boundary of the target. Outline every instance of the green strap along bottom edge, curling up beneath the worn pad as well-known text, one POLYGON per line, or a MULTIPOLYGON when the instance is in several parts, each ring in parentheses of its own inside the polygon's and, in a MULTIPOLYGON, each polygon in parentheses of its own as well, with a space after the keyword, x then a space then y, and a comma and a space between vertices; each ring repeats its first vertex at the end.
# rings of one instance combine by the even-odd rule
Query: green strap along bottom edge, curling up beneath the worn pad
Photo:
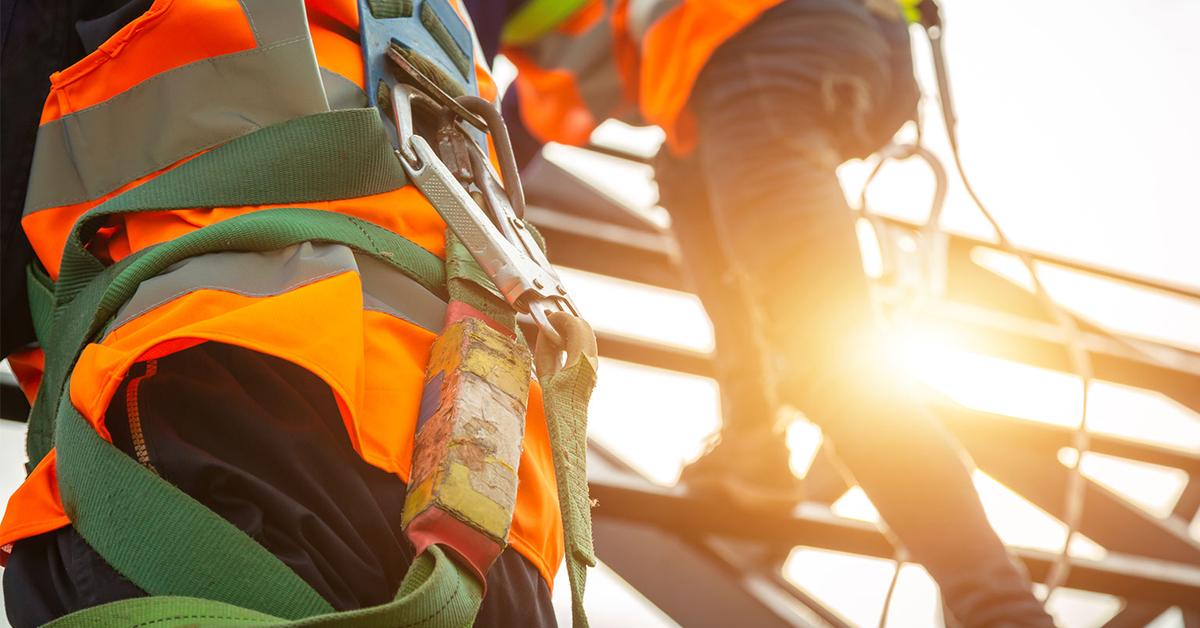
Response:
POLYGON ((114 602, 73 612, 47 628, 112 628, 180 626, 288 626, 355 628, 443 628, 469 626, 479 610, 482 591, 437 545, 413 562, 396 599, 368 609, 318 615, 306 620, 246 610, 210 599, 155 596, 114 602))

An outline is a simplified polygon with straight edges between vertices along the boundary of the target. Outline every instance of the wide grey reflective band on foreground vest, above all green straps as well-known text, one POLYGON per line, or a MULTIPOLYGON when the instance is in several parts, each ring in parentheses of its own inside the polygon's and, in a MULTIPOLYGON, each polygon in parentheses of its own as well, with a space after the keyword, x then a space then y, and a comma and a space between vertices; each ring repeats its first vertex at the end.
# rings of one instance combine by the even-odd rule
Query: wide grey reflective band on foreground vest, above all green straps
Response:
POLYGON ((329 110, 304 5, 242 7, 258 47, 176 67, 42 125, 25 214, 100 198, 198 151, 329 110))

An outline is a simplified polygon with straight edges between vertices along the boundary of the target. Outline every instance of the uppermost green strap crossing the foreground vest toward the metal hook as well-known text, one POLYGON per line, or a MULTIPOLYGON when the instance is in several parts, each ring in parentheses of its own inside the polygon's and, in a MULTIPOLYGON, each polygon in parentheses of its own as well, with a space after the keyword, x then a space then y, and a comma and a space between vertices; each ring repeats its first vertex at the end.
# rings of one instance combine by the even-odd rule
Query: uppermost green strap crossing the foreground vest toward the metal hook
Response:
MULTIPOLYGON (((343 109, 296 118, 242 136, 83 215, 62 251, 53 311, 59 316, 64 306, 104 270, 104 264, 88 251, 86 244, 114 215, 352 198, 395 190, 406 180, 374 109, 343 109)), ((31 285, 31 293, 34 289, 31 285)), ((442 291, 439 286, 436 292, 442 291)), ((34 294, 30 298, 31 304, 38 306, 34 294)), ((35 311, 35 316, 37 313, 35 311)), ((43 321, 50 321, 54 335, 60 335, 59 321, 53 317, 43 321)), ((43 322, 42 327, 49 325, 43 322)), ((55 339, 43 336, 44 333, 40 333, 49 355, 55 339)), ((47 360, 47 381, 61 382, 72 364, 73 357, 47 360)), ((42 385, 38 389, 26 441, 30 471, 53 447, 53 403, 56 403, 53 395, 58 394, 58 388, 42 385)))

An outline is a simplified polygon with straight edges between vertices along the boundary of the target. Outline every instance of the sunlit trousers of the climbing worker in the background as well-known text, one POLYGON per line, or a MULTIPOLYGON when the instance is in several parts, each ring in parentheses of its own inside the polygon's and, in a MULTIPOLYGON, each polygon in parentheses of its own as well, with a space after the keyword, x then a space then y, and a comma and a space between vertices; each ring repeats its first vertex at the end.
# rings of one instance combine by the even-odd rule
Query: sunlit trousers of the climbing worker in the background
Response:
POLYGON ((662 203, 716 329, 725 437, 769 430, 778 394, 821 425, 964 624, 1049 626, 961 448, 876 340, 835 168, 884 144, 916 96, 902 23, 854 0, 785 1, 709 61, 697 152, 665 160, 662 203))

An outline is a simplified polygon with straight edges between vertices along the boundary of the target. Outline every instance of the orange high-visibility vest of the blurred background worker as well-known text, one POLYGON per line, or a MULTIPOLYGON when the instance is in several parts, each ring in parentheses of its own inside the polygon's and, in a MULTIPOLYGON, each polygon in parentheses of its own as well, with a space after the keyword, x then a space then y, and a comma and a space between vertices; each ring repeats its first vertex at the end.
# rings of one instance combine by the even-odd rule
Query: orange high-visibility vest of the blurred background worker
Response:
POLYGON ((586 144, 608 118, 659 125, 691 150, 688 100, 716 49, 782 0, 589 0, 536 37, 502 41, 521 119, 538 139, 586 144))

